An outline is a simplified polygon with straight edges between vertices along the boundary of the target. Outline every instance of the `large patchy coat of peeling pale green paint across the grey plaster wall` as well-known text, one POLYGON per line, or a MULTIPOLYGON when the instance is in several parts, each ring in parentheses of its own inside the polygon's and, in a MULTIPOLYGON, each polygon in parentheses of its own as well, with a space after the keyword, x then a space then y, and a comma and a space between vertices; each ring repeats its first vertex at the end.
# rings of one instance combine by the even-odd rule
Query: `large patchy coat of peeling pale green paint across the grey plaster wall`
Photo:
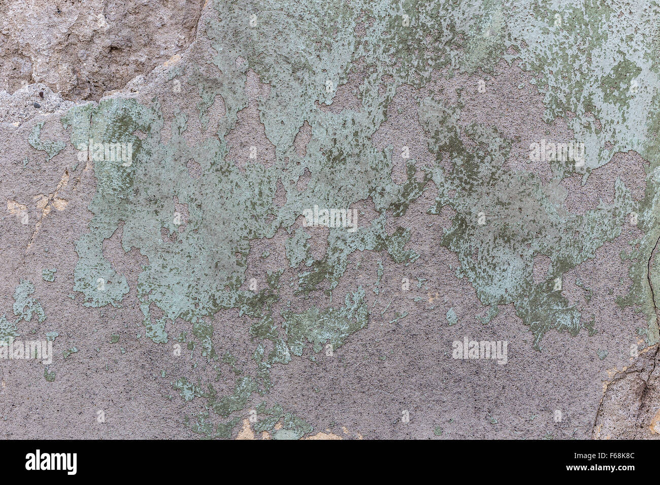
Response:
MULTIPOLYGON (((235 377, 249 374, 238 377, 233 393, 225 396, 216 395, 212 387, 203 392, 186 377, 176 381, 174 387, 185 401, 207 400, 207 411, 189 421, 194 432, 230 436, 240 422, 230 416, 243 410, 253 393, 269 391, 273 365, 286 365, 292 356, 302 356, 309 344, 315 354, 326 344, 336 350, 368 325, 364 290, 354 284, 349 284, 343 306, 299 308, 318 292, 331 295, 356 251, 375 251, 397 265, 414 265, 419 258, 409 249, 409 243, 415 242, 414 232, 401 226, 398 218, 425 189, 437 191, 434 204, 428 207, 429 221, 444 207, 455 212, 451 226, 432 238, 457 255, 457 278, 467 278, 480 302, 489 307, 479 320, 485 325, 498 315, 500 305, 513 304, 539 350, 543 335, 552 329, 571 335, 583 329, 590 335, 595 332, 597 321, 587 321, 555 288, 556 280, 595 257, 597 249, 621 234, 629 214, 638 213, 638 228, 644 236, 640 248, 625 256, 632 264, 633 285, 618 303, 643 311, 647 328, 640 329, 640 334, 649 344, 659 340, 653 290, 660 289, 660 261, 657 253, 653 257, 653 248, 660 238, 660 141, 651 134, 660 127, 653 114, 660 108, 660 94, 654 87, 658 85, 657 56, 651 43, 645 42, 653 38, 652 22, 626 15, 616 28, 606 28, 618 9, 597 0, 561 9, 545 0, 516 5, 516 9, 499 0, 383 0, 350 5, 216 0, 213 6, 220 16, 205 25, 215 50, 213 64, 177 68, 170 79, 182 76, 197 88, 199 102, 193 116, 199 115, 204 131, 211 106, 222 98, 226 110, 216 133, 191 145, 186 139, 188 115, 176 112, 165 120, 155 99, 148 106, 128 98, 104 99, 75 106, 62 118, 76 148, 84 149, 92 139, 133 145, 128 166, 119 160, 94 162, 96 193, 89 206, 93 218, 88 232, 77 241, 73 290, 82 294, 86 306, 121 306, 130 289, 127 278, 103 255, 104 240, 121 231, 123 250, 135 247, 148 260, 137 280, 145 335, 166 344, 168 325, 182 319, 192 337, 185 340, 184 334, 178 341, 186 342, 191 351, 199 348, 208 362, 223 355, 222 362, 235 377), (253 12, 259 15, 255 25, 250 25, 246 19, 253 12), (555 14, 562 18, 560 24, 555 14), (409 24, 404 24, 404 15, 409 24), (356 27, 366 18, 370 24, 363 38, 356 34, 356 27), (580 215, 568 212, 560 182, 572 176, 575 167, 553 162, 549 183, 533 171, 506 168, 518 141, 494 127, 461 123, 461 110, 467 104, 461 89, 458 100, 451 102, 442 96, 414 95, 428 150, 436 159, 423 167, 409 160, 405 181, 393 181, 393 149, 377 149, 372 137, 387 121, 387 108, 397 88, 423 89, 433 73, 453 77, 479 71, 484 77, 494 76, 502 58, 508 63, 520 61, 522 69, 533 73, 531 82, 544 97, 545 121, 566 119, 575 141, 585 143, 583 184, 614 152, 636 150, 651 162, 641 202, 634 201, 628 187, 618 180, 612 204, 601 203, 580 215), (358 60, 366 66, 354 94, 358 108, 321 109, 333 107, 337 88, 348 81, 358 60), (269 166, 255 161, 239 168, 227 158, 226 135, 236 126, 238 112, 248 106, 249 70, 269 89, 268 96, 257 101, 257 108, 265 135, 275 147, 275 160, 269 166), (391 82, 383 82, 385 77, 391 77, 391 82), (600 127, 588 113, 599 120, 600 127), (171 122, 171 137, 164 142, 160 132, 166 121, 171 122), (300 156, 293 141, 304 122, 310 125, 312 137, 306 154, 300 156), (145 136, 139 137, 138 131, 145 136), (614 150, 606 150, 605 142, 611 142, 614 150), (189 160, 199 164, 201 177, 191 177, 189 160), (449 160, 449 168, 443 160, 449 160), (299 189, 298 182, 306 174, 310 179, 299 189), (275 203, 278 182, 286 195, 282 206, 275 203), (175 222, 174 197, 189 211, 183 231, 175 222), (355 232, 329 228, 327 249, 315 258, 310 240, 317 236, 306 228, 294 228, 298 217, 315 205, 349 209, 362 201, 368 201, 376 216, 359 218, 355 232), (289 234, 286 266, 297 273, 295 310, 291 303, 282 309, 280 278, 287 268, 269 269, 265 289, 240 289, 248 280, 250 243, 273 238, 280 228, 289 234), (533 280, 536 255, 551 260, 548 275, 538 284, 533 280), (152 304, 163 317, 151 314, 152 304), (226 309, 238 309, 239 317, 251 319, 256 370, 238 370, 231 354, 215 348, 214 337, 222 329, 214 327, 213 317, 226 309), (222 421, 216 422, 211 412, 222 421)), ((637 7, 640 12, 658 18, 656 5, 642 7, 637 7)), ((29 142, 46 151, 50 160, 64 145, 42 141, 42 125, 34 127, 29 142)), ((265 259, 269 254, 263 251, 261 256, 265 259)), ((380 294, 382 259, 377 271, 374 292, 380 294)), ((44 279, 52 281, 48 279, 52 273, 44 270, 44 279)), ((418 278, 418 288, 422 281, 418 278)), ((15 315, 30 321, 36 311, 43 321, 41 306, 28 298, 34 286, 21 285, 15 293, 15 315)), ((591 290, 583 289, 588 302, 591 290)), ((397 323, 407 312, 396 315, 389 323, 397 323)), ((453 307, 446 317, 449 325, 457 323, 453 307)), ((9 325, 6 319, 0 321, 0 330, 7 335, 16 331, 9 325), (7 329, 2 330, 2 325, 7 329)), ((118 341, 119 335, 112 335, 110 342, 118 341)), ((249 355, 251 348, 246 350, 249 355)), ((312 431, 281 407, 273 416, 285 422, 273 435, 275 439, 312 431)), ((273 419, 259 426, 270 426, 273 419)))

